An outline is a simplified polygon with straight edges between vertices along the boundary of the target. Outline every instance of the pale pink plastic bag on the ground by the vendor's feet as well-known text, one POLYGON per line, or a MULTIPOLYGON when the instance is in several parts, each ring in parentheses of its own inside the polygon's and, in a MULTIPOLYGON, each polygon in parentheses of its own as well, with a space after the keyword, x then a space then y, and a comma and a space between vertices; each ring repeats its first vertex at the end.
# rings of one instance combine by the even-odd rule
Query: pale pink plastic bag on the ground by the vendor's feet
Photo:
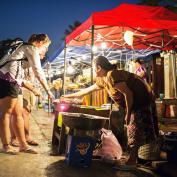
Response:
POLYGON ((95 156, 100 156, 105 161, 118 160, 122 156, 122 148, 111 130, 102 128, 100 130, 101 141, 96 150, 95 156))

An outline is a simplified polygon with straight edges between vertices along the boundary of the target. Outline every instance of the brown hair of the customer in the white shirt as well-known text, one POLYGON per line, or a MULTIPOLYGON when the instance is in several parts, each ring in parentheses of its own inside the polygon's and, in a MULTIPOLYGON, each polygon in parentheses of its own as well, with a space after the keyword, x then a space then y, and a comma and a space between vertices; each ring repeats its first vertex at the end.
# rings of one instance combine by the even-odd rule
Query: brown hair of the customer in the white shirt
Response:
POLYGON ((32 34, 28 39, 28 43, 32 44, 33 42, 51 42, 47 34, 32 34))

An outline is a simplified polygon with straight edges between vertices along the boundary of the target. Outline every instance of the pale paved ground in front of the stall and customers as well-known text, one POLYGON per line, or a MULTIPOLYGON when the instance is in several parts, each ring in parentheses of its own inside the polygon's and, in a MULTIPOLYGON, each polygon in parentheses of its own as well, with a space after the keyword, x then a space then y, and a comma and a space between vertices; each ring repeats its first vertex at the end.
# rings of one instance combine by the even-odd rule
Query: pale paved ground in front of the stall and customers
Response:
MULTIPOLYGON (((0 153, 0 177, 154 177, 150 171, 116 171, 108 164, 94 161, 90 168, 69 167, 63 156, 51 156, 53 115, 39 110, 31 117, 31 134, 40 146, 39 154, 0 153)), ((0 144, 1 148, 1 144, 0 144)))

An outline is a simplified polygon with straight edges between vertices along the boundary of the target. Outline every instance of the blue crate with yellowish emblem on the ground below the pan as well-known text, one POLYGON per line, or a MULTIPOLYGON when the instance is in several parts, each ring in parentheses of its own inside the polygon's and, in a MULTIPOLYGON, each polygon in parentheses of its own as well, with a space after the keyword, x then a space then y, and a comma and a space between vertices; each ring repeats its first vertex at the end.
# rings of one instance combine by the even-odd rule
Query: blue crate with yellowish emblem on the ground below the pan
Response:
POLYGON ((95 141, 89 136, 68 135, 66 147, 66 163, 70 166, 89 167, 95 141))

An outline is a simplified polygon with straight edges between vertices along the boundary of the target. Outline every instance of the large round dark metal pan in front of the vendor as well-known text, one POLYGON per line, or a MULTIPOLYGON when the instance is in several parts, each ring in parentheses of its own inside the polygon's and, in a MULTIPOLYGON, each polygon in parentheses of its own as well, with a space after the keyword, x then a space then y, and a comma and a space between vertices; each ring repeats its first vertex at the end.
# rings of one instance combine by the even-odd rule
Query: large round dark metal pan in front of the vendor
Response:
POLYGON ((73 129, 79 130, 98 130, 104 127, 106 120, 109 118, 100 117, 83 113, 61 113, 63 123, 73 129))

